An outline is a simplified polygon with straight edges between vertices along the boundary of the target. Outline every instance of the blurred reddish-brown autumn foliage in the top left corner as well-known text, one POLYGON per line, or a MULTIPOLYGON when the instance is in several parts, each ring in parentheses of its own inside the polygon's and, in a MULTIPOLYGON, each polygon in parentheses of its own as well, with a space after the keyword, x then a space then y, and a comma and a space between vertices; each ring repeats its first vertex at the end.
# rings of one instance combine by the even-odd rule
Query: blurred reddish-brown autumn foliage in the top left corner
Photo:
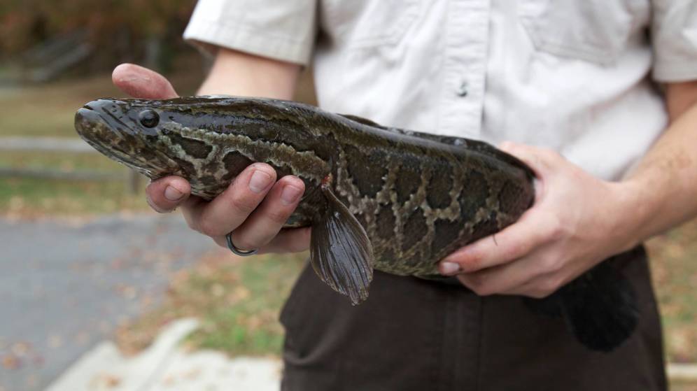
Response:
POLYGON ((195 0, 2 0, 0 57, 79 32, 104 62, 137 59, 148 40, 178 44, 194 5, 195 0))

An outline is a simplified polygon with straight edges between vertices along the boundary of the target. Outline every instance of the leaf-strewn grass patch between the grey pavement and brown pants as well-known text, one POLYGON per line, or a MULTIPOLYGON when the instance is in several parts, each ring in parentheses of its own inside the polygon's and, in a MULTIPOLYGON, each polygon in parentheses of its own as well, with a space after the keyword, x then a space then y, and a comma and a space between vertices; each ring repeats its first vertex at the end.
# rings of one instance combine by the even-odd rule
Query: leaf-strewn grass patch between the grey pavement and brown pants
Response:
POLYGON ((222 350, 230 355, 279 355, 283 327, 278 321, 307 255, 231 257, 212 253, 197 266, 172 278, 167 299, 155 311, 119 329, 126 353, 148 344, 165 323, 194 316, 202 327, 192 334, 192 348, 222 350))

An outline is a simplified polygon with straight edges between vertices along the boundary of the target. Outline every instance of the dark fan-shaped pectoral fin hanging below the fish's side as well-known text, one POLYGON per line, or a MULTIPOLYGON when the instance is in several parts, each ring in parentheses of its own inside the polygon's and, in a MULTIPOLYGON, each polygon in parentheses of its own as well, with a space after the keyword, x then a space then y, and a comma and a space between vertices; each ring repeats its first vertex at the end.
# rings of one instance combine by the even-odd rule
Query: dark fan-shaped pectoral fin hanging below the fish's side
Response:
POLYGON ((365 229, 348 208, 322 186, 327 211, 312 225, 310 262, 333 290, 346 294, 351 304, 367 299, 373 278, 373 250, 365 229))

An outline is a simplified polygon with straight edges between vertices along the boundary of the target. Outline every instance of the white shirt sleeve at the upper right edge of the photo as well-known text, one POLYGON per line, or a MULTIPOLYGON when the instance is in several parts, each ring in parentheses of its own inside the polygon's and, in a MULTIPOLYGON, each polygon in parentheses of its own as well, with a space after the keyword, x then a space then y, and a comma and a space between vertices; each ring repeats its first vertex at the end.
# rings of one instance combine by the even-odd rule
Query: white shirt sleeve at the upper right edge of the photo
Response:
POLYGON ((653 3, 654 79, 697 80, 697 1, 654 0, 653 3))

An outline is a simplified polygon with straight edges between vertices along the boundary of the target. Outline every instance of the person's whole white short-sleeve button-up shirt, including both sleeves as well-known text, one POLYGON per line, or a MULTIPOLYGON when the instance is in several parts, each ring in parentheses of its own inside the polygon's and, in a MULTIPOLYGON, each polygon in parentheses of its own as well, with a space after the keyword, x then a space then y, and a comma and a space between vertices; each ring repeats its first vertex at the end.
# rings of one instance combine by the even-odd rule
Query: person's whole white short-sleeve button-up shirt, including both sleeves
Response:
MULTIPOLYGON (((313 64, 322 108, 621 178, 697 79, 694 0, 199 0, 185 38, 313 64)), ((202 48, 210 48, 201 45, 202 48)))

